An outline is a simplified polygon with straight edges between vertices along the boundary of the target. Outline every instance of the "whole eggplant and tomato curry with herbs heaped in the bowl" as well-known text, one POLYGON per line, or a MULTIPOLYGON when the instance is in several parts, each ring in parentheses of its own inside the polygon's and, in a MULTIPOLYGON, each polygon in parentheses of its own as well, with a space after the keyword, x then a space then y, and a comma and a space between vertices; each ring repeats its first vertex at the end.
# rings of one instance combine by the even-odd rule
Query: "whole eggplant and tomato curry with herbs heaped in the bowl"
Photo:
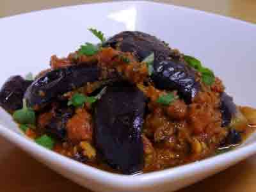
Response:
MULTIPOLYGON (((239 145, 256 111, 234 104, 214 72, 155 36, 124 31, 12 76, 0 105, 36 143, 122 174, 163 170, 239 145)), ((36 64, 35 64, 36 65, 36 64)))

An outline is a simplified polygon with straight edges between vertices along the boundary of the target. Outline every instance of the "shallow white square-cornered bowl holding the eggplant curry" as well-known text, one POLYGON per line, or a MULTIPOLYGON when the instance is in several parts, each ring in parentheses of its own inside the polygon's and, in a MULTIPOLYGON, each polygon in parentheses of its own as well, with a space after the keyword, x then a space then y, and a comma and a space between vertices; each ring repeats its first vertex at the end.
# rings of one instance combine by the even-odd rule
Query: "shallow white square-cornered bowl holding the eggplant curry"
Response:
MULTIPOLYGON (((36 74, 47 68, 52 54, 66 56, 84 42, 95 41, 86 30, 90 27, 108 36, 127 29, 156 35, 212 68, 237 104, 256 107, 255 25, 147 1, 86 4, 0 19, 0 84, 9 76, 36 74)), ((161 172, 125 176, 97 170, 36 145, 20 134, 3 109, 0 134, 61 175, 104 192, 174 191, 256 153, 253 135, 241 147, 220 156, 161 172)))

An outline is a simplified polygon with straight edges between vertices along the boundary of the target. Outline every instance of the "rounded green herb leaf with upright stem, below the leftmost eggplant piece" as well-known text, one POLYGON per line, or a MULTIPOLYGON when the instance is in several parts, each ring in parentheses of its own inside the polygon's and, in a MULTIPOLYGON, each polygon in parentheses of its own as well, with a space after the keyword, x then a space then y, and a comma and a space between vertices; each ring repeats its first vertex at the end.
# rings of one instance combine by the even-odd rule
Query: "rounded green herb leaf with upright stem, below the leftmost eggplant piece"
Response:
POLYGON ((23 108, 13 113, 13 119, 19 124, 35 124, 36 115, 32 108, 27 108, 26 99, 23 100, 23 108))

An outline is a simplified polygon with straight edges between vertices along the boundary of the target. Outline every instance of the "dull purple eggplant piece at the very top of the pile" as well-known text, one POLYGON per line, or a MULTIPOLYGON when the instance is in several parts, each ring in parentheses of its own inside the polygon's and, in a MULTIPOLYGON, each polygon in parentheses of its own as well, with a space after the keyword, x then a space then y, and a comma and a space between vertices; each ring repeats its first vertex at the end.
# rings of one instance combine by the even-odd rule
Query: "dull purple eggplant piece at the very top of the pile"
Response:
POLYGON ((109 38, 103 46, 110 46, 122 52, 131 52, 138 61, 144 60, 152 52, 159 53, 161 60, 168 58, 172 52, 156 36, 148 35, 140 31, 124 31, 109 38))

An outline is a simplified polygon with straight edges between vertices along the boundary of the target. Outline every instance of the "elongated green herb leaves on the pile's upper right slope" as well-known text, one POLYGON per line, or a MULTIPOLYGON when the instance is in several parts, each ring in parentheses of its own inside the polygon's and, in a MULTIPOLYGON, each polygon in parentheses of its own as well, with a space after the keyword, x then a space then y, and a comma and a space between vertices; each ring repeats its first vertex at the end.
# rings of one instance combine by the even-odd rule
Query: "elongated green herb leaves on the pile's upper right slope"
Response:
POLYGON ((215 81, 214 73, 209 68, 203 67, 202 63, 198 59, 192 56, 185 55, 184 60, 188 63, 190 67, 195 68, 195 70, 197 70, 202 74, 202 81, 205 84, 211 86, 211 84, 214 83, 215 81))

